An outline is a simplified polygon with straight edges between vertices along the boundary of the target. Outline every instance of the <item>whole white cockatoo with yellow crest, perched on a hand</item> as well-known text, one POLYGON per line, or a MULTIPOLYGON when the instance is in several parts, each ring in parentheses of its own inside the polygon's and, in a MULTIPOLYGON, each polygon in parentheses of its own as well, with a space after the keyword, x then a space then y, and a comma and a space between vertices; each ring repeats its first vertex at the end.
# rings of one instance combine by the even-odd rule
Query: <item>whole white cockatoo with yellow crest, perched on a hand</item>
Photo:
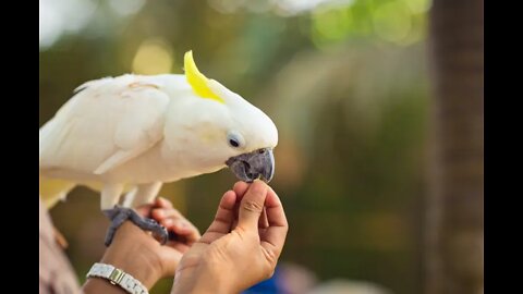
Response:
POLYGON ((100 191, 112 220, 108 246, 126 219, 167 241, 167 231, 133 208, 162 183, 229 167, 246 182, 275 173, 275 123, 262 110, 202 74, 192 51, 185 74, 106 77, 75 89, 40 127, 40 195, 48 207, 76 185, 100 191), (121 195, 126 193, 120 206, 121 195))

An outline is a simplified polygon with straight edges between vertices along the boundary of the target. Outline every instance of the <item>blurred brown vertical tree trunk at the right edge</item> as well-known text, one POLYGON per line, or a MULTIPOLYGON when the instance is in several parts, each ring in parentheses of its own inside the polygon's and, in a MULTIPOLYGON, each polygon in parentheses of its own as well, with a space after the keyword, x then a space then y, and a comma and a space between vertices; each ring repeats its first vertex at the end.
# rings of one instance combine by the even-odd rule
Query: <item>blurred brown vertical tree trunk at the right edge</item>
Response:
POLYGON ((483 293, 484 3, 434 0, 425 293, 483 293))

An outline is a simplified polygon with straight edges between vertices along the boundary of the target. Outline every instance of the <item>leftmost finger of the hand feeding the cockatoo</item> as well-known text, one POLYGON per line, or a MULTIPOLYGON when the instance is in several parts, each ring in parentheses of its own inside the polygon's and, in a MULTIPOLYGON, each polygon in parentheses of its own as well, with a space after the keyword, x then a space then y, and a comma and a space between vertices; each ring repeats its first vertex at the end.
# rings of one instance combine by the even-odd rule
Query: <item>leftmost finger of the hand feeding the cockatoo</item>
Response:
POLYGON ((215 220, 200 238, 203 243, 211 243, 231 231, 235 201, 236 194, 233 191, 228 191, 223 194, 216 211, 215 220))

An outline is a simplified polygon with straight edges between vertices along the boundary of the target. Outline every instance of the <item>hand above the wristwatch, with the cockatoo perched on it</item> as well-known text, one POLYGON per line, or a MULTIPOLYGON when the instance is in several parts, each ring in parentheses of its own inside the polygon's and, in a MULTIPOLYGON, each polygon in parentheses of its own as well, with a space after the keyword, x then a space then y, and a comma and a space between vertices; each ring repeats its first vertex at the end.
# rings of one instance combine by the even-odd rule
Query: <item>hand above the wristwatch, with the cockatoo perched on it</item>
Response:
MULTIPOLYGON (((200 235, 198 230, 165 198, 157 198, 154 204, 136 210, 144 217, 155 219, 169 232, 175 233, 177 240, 170 240, 166 245, 161 245, 149 232, 125 221, 118 229, 101 262, 122 269, 150 289, 160 278, 174 274, 183 253, 188 250, 200 235)), ((86 286, 88 291, 87 283, 86 286)))

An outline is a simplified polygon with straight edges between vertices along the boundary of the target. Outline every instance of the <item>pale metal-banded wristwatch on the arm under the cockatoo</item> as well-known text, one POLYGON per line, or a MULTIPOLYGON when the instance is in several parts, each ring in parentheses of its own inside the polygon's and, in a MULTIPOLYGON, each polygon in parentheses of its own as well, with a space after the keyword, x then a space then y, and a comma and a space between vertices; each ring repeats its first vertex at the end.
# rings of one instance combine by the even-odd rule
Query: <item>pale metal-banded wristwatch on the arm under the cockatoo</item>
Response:
POLYGON ((111 284, 119 285, 131 294, 149 294, 138 280, 111 265, 96 262, 87 273, 87 278, 92 277, 107 279, 111 284))

